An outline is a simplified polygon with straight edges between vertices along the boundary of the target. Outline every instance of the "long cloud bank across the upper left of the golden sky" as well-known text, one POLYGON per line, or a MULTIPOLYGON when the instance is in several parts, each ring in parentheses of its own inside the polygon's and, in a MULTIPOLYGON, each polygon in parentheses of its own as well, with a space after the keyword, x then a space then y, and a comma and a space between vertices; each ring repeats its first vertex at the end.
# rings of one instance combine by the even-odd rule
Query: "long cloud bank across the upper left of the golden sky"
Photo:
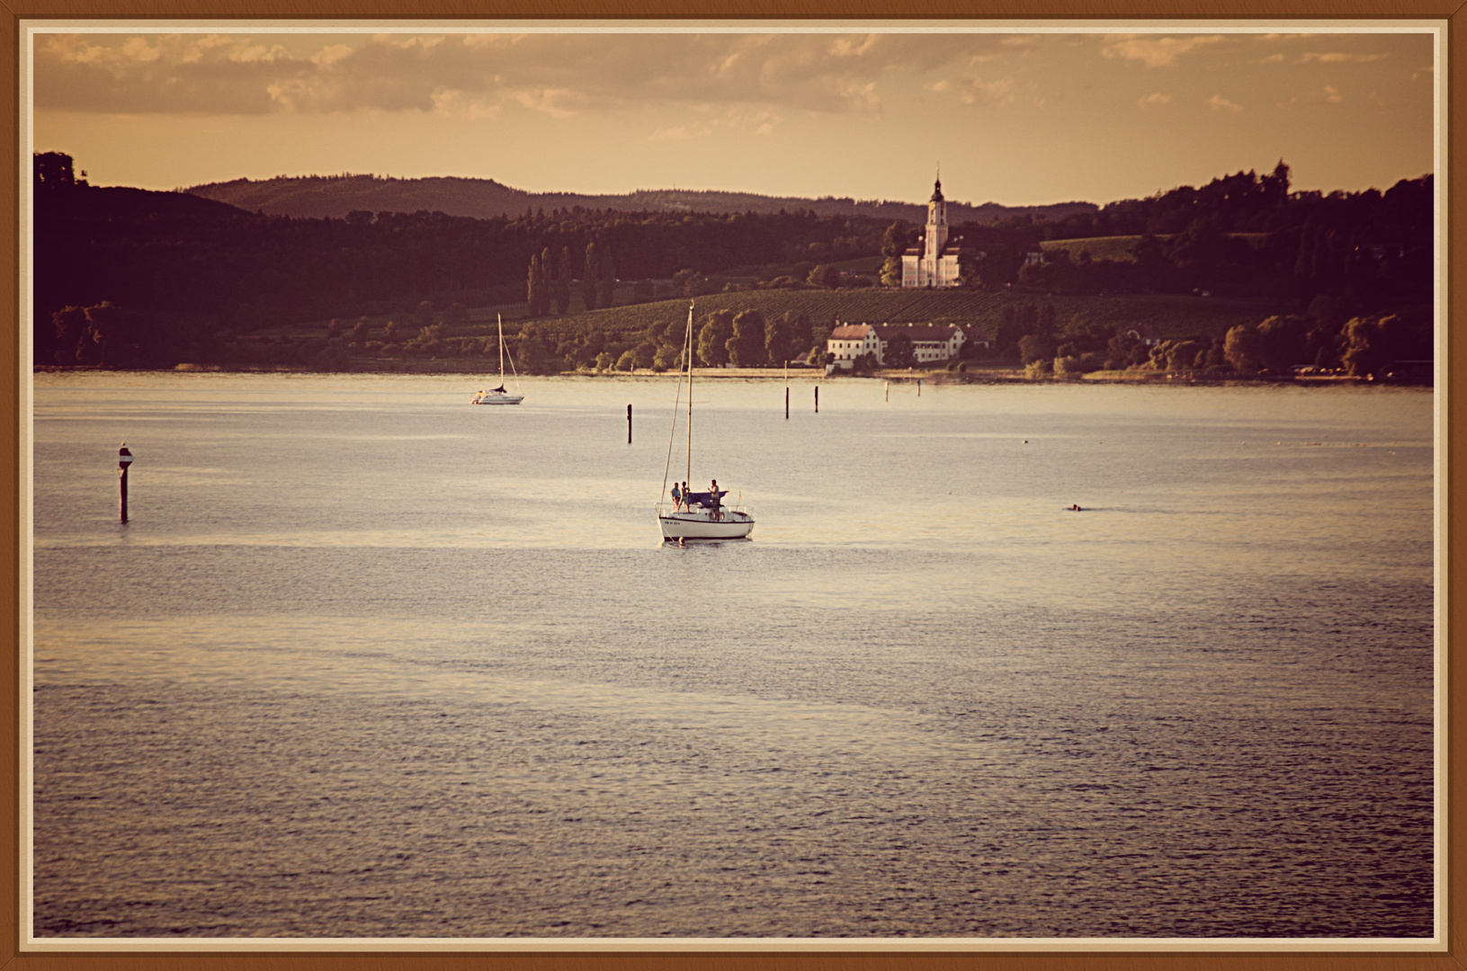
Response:
MULTIPOLYGON (((35 103, 114 113, 493 113, 553 117, 648 104, 882 114, 892 72, 971 65, 993 34, 38 35, 35 103), (276 43, 288 40, 290 47, 276 43), (315 45, 312 48, 312 41, 315 45), (296 53, 290 53, 290 51, 296 53), (310 51, 310 53, 301 53, 310 51)), ((980 82, 981 84, 981 82, 980 82)), ((981 100, 980 88, 970 92, 981 100)), ((672 129, 669 129, 672 131, 672 129)))

